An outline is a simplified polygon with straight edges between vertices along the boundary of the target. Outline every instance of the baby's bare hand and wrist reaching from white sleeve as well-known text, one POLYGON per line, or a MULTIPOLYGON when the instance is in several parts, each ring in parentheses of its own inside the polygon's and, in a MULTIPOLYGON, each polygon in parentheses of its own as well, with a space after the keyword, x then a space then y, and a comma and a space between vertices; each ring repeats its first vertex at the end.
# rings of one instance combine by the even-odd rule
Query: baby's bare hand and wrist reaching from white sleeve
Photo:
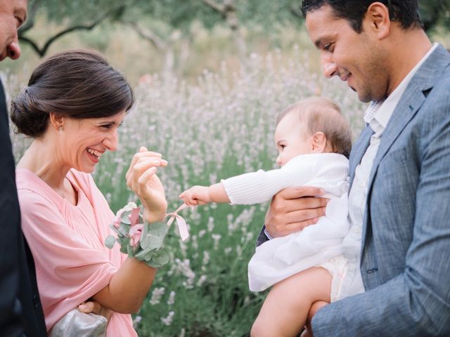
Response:
POLYGON ((193 186, 179 195, 188 206, 209 204, 210 202, 230 202, 224 186, 217 183, 211 186, 193 186))

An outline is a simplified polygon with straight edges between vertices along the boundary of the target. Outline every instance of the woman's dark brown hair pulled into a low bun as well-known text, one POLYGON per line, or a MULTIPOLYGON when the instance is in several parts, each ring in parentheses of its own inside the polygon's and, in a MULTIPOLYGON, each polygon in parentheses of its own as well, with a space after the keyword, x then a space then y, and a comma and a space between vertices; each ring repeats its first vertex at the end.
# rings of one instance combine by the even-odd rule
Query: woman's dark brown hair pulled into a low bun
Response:
POLYGON ((11 103, 11 120, 18 133, 37 138, 46 131, 50 112, 101 118, 128 111, 133 103, 131 86, 102 55, 63 51, 34 70, 28 86, 11 103))

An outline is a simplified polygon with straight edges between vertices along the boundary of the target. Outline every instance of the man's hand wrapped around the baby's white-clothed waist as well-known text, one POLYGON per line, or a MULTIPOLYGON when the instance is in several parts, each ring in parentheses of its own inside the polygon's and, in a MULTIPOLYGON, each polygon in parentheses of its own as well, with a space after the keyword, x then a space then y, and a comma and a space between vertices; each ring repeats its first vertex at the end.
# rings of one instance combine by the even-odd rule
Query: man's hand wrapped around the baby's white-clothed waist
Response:
POLYGON ((316 197, 326 192, 318 187, 288 187, 275 194, 266 213, 266 230, 283 237, 317 223, 325 215, 328 200, 316 197))

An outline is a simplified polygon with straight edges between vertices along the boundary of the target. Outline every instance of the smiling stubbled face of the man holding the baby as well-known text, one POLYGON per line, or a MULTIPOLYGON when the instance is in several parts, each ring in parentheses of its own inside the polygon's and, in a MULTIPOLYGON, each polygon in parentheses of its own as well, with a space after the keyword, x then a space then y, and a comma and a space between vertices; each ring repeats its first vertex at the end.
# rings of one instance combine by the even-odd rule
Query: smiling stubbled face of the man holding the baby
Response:
POLYGON ((361 102, 381 100, 387 92, 385 53, 368 19, 361 33, 345 19, 336 18, 329 5, 307 13, 309 37, 321 53, 323 74, 338 76, 358 93, 361 102))

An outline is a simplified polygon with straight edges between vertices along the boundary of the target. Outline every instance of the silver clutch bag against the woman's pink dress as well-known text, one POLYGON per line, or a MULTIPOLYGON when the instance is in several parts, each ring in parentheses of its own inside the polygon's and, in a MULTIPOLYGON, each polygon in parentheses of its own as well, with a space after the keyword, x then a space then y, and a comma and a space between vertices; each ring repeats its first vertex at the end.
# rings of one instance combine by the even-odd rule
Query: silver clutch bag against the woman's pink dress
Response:
POLYGON ((70 310, 51 329, 50 337, 105 337, 108 319, 77 308, 70 310))

